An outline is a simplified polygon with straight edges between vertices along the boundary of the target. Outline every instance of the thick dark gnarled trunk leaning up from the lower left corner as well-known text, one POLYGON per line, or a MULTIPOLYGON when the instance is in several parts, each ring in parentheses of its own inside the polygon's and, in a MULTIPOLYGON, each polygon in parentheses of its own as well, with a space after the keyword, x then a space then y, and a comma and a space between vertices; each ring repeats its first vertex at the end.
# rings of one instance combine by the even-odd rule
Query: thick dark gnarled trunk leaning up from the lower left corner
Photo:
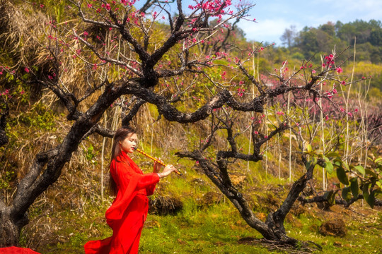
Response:
POLYGON ((84 137, 98 123, 103 112, 122 94, 122 85, 112 84, 97 102, 71 126, 63 142, 53 150, 37 154, 28 174, 18 183, 18 188, 9 205, 0 197, 0 246, 17 246, 21 229, 28 224, 27 211, 35 199, 47 190, 61 175, 62 168, 69 161, 84 137), (45 168, 46 167, 46 168, 45 168))

